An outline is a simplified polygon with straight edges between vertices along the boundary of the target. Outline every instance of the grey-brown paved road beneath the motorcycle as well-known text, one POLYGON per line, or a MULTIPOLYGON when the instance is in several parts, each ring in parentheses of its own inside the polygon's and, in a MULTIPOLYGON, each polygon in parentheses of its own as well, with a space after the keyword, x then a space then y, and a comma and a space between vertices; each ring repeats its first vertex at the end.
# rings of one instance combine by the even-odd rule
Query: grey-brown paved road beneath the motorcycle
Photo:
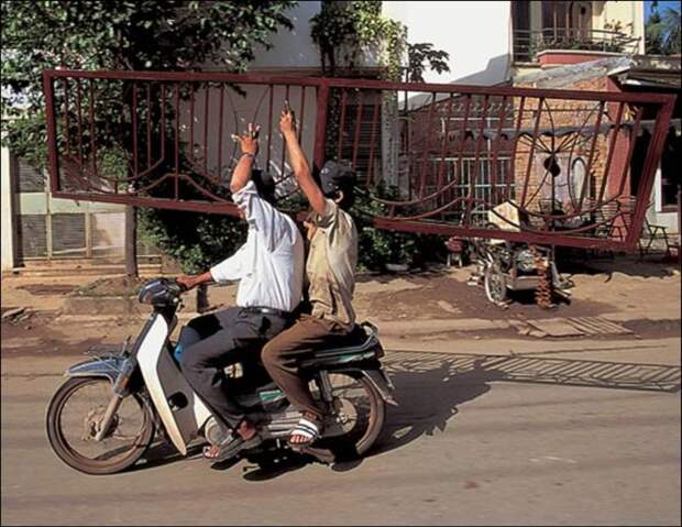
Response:
POLYGON ((360 463, 263 472, 172 459, 112 476, 75 472, 47 446, 45 406, 76 358, 13 355, 2 524, 680 525, 679 362, 631 365, 613 359, 631 354, 622 348, 610 366, 388 353, 402 406, 360 463))

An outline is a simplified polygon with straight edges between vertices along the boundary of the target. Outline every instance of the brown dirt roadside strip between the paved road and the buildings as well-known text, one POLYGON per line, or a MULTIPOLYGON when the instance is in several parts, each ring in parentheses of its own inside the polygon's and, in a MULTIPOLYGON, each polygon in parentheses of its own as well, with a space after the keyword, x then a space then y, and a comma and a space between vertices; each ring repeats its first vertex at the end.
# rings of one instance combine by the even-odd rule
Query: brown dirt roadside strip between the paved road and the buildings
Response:
MULTIPOLYGON (((466 284, 472 271, 472 266, 441 266, 421 273, 360 275, 354 298, 358 318, 372 320, 380 329, 398 328, 393 334, 396 339, 422 342, 457 340, 464 333, 473 339, 532 340, 532 336, 519 336, 514 323, 601 316, 619 320, 632 331, 632 339, 680 336, 680 273, 671 264, 630 260, 579 267, 569 274, 575 283, 570 301, 549 310, 535 305, 532 295, 515 295, 506 309, 491 304, 482 287, 466 284), (457 323, 457 331, 451 323, 457 323), (438 329, 425 330, 430 327, 438 329)), ((119 345, 125 336, 134 336, 143 317, 74 320, 64 316, 66 296, 97 281, 97 276, 87 281, 77 276, 3 277, 2 312, 23 307, 28 316, 3 320, 2 355, 73 353, 75 348, 119 345)), ((234 303, 235 290, 235 285, 213 287, 209 300, 216 308, 228 307, 234 303)), ((180 314, 182 320, 191 316, 189 309, 180 314)))

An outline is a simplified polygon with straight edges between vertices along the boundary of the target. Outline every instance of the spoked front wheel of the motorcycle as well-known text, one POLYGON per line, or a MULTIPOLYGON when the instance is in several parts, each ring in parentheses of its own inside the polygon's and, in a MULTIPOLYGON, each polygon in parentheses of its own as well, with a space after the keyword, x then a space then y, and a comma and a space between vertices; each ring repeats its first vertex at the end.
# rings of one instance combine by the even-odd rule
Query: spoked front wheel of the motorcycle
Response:
POLYGON ((54 452, 86 474, 113 474, 133 465, 154 437, 154 419, 139 394, 125 397, 106 436, 96 441, 113 395, 105 377, 73 377, 55 393, 47 408, 47 438, 54 452))

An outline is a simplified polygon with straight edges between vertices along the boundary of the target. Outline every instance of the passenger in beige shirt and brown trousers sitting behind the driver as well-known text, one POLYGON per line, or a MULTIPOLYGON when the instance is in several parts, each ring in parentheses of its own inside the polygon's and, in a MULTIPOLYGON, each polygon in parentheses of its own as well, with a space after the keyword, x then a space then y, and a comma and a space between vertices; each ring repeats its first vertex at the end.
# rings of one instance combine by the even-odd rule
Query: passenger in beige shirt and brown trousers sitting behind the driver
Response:
POLYGON ((298 371, 298 360, 319 349, 343 341, 355 326, 351 300, 355 288, 358 232, 351 216, 343 210, 352 205, 353 173, 334 162, 321 171, 320 188, 302 153, 290 111, 282 113, 279 129, 286 141, 294 175, 312 207, 308 228, 310 249, 306 263, 309 281, 310 316, 302 316, 263 348, 263 364, 292 404, 302 411, 289 443, 299 449, 320 433, 323 408, 316 405, 308 383, 298 371))

